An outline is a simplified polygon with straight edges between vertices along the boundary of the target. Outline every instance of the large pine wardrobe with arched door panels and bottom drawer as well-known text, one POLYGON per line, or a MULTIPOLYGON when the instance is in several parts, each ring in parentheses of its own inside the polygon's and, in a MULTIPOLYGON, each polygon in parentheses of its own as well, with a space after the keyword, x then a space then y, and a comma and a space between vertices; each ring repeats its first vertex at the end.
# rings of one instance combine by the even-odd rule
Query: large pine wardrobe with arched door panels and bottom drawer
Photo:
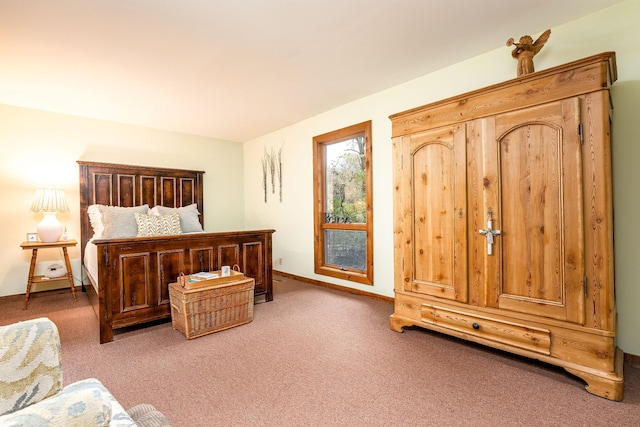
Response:
POLYGON ((622 400, 602 53, 391 116, 395 309, 622 400))

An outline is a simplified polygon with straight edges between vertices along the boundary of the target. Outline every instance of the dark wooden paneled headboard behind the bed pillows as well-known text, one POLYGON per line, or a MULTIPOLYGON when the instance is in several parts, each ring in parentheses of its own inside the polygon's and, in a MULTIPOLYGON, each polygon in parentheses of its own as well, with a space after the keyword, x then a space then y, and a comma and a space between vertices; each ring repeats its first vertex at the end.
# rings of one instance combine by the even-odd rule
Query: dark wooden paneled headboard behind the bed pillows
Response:
POLYGON ((81 256, 93 236, 87 208, 93 204, 131 207, 196 203, 204 226, 203 171, 78 161, 80 166, 81 256))

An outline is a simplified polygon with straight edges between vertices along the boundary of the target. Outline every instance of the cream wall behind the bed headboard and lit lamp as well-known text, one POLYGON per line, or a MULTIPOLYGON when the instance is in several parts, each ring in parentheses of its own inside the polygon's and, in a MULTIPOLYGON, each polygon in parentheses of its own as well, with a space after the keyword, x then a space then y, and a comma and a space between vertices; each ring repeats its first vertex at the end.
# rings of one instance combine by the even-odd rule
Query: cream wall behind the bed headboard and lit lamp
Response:
MULTIPOLYGON (((65 190, 70 212, 59 213, 69 238, 80 240, 77 160, 202 170, 207 231, 244 227, 242 146, 174 132, 0 105, 0 296, 24 294, 31 251, 20 243, 42 214, 29 211, 36 188, 65 190)), ((80 247, 69 249, 80 280, 80 247)), ((60 250, 41 250, 37 272, 62 262, 60 250)), ((68 286, 37 285, 35 291, 68 286)))

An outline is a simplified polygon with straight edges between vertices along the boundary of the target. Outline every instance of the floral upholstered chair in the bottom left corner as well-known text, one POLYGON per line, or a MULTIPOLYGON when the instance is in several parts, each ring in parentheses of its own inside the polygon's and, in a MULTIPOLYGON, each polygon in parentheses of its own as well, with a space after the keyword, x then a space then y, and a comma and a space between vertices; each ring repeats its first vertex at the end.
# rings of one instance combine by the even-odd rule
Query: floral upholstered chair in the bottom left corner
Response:
POLYGON ((0 326, 0 426, 169 426, 151 405, 125 411, 95 378, 62 387, 60 362, 51 320, 0 326))

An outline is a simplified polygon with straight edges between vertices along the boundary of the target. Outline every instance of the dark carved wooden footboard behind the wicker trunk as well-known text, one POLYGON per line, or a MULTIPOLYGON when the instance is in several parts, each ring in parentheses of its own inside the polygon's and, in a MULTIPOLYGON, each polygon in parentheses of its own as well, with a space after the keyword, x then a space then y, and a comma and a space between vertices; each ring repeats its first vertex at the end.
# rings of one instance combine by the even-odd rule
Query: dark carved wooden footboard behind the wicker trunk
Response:
POLYGON ((273 230, 96 240, 100 343, 115 329, 171 316, 170 283, 180 273, 237 264, 255 280, 256 296, 273 299, 273 230))

